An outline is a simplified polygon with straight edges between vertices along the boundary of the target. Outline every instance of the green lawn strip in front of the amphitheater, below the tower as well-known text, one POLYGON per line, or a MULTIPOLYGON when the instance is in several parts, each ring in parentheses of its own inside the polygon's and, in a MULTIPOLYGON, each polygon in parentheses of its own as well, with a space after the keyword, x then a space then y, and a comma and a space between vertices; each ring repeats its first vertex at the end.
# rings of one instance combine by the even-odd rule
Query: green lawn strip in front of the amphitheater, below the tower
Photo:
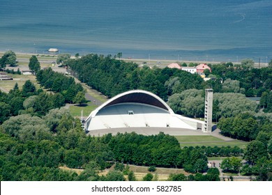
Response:
POLYGON ((217 137, 213 137, 211 135, 203 135, 203 136, 175 136, 178 139, 181 147, 185 146, 238 146, 240 148, 245 148, 247 146, 247 142, 245 141, 224 141, 217 137))

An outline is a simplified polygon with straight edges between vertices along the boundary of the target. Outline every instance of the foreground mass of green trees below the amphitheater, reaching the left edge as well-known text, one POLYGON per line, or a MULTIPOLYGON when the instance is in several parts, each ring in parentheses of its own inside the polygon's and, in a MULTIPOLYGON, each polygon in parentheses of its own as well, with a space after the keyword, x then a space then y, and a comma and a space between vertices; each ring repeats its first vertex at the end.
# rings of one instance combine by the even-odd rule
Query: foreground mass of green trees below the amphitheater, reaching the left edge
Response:
POLYGON ((98 176, 114 162, 207 171, 201 148, 181 149, 174 137, 163 133, 86 137, 80 120, 66 109, 52 109, 43 117, 12 116, 0 130, 1 180, 124 180, 119 170, 98 176), (59 166, 84 171, 62 171, 59 166))

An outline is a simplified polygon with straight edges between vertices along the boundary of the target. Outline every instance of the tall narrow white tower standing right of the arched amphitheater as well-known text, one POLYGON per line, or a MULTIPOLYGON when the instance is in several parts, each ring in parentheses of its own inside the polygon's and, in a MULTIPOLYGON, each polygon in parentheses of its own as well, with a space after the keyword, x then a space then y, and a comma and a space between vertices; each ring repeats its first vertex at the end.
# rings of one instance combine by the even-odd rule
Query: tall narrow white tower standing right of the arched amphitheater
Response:
POLYGON ((202 132, 211 132, 213 119, 213 89, 207 88, 205 90, 205 112, 204 112, 204 127, 202 132))

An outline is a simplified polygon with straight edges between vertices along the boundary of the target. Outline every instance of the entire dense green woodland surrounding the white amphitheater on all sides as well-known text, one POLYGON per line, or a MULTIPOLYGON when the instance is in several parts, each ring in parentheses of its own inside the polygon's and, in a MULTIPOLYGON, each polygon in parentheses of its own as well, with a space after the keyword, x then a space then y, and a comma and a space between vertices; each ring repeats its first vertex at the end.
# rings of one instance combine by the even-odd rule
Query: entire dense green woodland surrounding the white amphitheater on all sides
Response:
MULTIPOLYGON (((150 170, 176 167, 192 173, 171 174, 168 180, 220 180, 218 169, 207 166, 207 157, 214 156, 228 157, 222 161, 223 171, 241 171, 257 180, 272 180, 271 88, 270 78, 266 77, 271 75, 271 68, 245 70, 222 64, 216 69, 214 65, 213 75, 224 80, 221 84, 220 79, 204 81, 199 75, 177 69, 138 68, 135 63, 111 56, 89 54, 66 63, 73 75, 108 97, 142 88, 167 100, 176 113, 191 117, 203 115, 204 88, 213 87, 213 120, 219 121, 222 134, 251 142, 242 150, 181 148, 174 137, 163 133, 86 137, 80 120, 60 109, 66 102, 76 102, 82 86, 75 84, 73 77, 47 68, 37 70, 36 78, 48 91, 37 90, 31 81, 26 81, 22 90, 16 84, 9 93, 0 92, 0 180, 135 180, 133 171, 125 164, 150 166, 150 170), (253 89, 247 83, 258 71, 266 76, 259 77, 260 84, 255 81, 253 89), (245 98, 250 96, 251 88, 255 95, 262 92, 260 104, 245 98), (248 164, 241 164, 241 156, 248 164), (106 176, 99 174, 112 164, 113 171, 106 176), (60 166, 82 169, 82 173, 64 171, 60 166)), ((142 180, 157 179, 147 173, 142 180)))

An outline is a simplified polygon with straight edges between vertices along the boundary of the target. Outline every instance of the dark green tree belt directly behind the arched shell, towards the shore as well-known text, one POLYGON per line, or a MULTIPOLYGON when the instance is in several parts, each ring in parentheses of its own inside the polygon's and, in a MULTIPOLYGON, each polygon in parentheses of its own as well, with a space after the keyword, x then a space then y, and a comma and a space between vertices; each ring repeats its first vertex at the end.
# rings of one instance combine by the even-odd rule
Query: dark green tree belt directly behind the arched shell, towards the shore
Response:
POLYGON ((167 100, 165 82, 179 77, 179 88, 202 88, 203 79, 198 75, 176 69, 138 68, 136 63, 126 63, 109 56, 88 54, 81 59, 66 61, 80 81, 100 91, 109 98, 124 91, 143 89, 167 100))

